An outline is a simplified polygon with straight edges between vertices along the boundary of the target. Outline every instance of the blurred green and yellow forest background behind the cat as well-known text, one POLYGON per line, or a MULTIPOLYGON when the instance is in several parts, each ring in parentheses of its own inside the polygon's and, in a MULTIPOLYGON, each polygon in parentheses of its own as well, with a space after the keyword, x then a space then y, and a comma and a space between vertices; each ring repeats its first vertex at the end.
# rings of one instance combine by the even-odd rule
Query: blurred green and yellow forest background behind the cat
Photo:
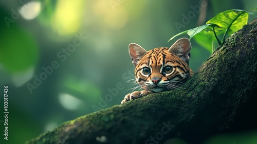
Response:
MULTIPOLYGON (((1 1, 0 91, 8 85, 9 112, 4 142, 25 143, 65 121, 120 104, 134 78, 128 44, 170 47, 189 38, 168 43, 173 35, 219 12, 256 6, 255 0, 1 1)), ((196 71, 211 53, 191 43, 196 71)), ((0 128, 2 141, 3 116, 0 128)))

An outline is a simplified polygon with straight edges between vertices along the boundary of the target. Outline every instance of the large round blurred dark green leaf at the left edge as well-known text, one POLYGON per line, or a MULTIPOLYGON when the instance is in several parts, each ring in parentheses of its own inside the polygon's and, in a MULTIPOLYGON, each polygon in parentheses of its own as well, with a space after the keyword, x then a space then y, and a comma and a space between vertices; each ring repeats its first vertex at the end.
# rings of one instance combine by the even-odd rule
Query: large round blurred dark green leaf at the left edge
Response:
POLYGON ((39 47, 31 33, 13 25, 2 30, 1 38, 0 61, 10 73, 23 71, 38 62, 39 47))

